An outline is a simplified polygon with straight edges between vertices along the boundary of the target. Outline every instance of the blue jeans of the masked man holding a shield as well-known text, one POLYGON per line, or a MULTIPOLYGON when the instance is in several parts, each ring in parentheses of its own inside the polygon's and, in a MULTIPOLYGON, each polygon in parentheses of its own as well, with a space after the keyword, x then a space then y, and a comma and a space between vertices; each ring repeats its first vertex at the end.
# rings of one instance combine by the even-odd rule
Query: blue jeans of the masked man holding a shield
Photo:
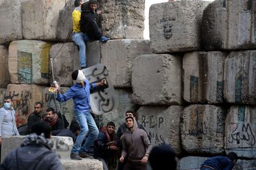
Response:
POLYGON ((98 137, 99 130, 90 113, 75 113, 75 120, 80 126, 80 131, 79 135, 77 136, 77 140, 75 140, 74 146, 72 147, 71 153, 85 153, 89 150, 98 137), (88 132, 89 136, 85 144, 81 147, 82 142, 88 132))

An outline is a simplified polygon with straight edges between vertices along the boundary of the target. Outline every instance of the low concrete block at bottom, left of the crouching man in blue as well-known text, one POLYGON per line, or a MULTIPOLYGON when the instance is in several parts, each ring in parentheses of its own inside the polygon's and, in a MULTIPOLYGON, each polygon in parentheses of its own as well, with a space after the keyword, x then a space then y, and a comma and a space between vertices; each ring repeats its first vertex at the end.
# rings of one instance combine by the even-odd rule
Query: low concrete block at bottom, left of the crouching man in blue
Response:
POLYGON ((206 159, 208 159, 208 157, 187 156, 187 157, 181 158, 181 161, 179 161, 179 170, 187 170, 187 169, 200 170, 201 164, 206 159))

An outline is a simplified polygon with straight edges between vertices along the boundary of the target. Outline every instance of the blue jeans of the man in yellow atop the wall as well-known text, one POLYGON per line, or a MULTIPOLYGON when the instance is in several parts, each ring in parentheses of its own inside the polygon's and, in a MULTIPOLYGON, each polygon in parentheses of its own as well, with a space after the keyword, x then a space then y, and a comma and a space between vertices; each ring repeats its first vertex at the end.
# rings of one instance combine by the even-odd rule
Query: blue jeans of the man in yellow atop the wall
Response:
POLYGON ((73 33, 72 40, 79 46, 80 67, 86 67, 86 45, 89 40, 87 33, 73 33))

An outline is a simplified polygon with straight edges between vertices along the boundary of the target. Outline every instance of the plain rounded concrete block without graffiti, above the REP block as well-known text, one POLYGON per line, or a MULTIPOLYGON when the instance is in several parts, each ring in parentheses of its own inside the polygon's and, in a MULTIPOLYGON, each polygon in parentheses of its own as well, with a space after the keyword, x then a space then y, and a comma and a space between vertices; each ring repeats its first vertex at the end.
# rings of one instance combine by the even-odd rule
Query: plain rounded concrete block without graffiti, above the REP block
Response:
POLYGON ((132 101, 137 104, 182 104, 181 67, 179 56, 138 56, 132 68, 132 101))

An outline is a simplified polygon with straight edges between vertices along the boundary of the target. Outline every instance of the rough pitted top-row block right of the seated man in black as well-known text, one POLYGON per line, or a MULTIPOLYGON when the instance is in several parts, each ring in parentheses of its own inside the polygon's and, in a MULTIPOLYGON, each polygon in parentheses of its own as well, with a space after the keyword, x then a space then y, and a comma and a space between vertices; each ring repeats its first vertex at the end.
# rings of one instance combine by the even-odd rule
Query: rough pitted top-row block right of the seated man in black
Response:
POLYGON ((101 29, 112 39, 143 39, 145 1, 100 0, 101 29))

